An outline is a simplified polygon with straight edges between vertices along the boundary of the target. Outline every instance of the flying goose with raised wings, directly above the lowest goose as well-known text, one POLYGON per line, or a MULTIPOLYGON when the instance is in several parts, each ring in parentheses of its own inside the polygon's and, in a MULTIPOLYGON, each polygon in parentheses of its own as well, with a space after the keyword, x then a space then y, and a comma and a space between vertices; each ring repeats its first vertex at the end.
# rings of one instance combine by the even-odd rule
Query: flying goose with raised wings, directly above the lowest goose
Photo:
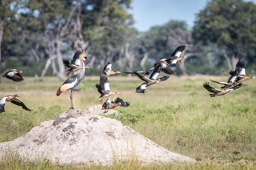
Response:
POLYGON ((107 77, 106 73, 100 74, 100 84, 97 83, 95 85, 95 87, 97 88, 98 92, 101 94, 99 98, 102 97, 102 99, 100 100, 100 103, 102 103, 102 100, 104 97, 108 97, 113 94, 120 94, 119 92, 111 92, 110 91, 108 77, 107 77))

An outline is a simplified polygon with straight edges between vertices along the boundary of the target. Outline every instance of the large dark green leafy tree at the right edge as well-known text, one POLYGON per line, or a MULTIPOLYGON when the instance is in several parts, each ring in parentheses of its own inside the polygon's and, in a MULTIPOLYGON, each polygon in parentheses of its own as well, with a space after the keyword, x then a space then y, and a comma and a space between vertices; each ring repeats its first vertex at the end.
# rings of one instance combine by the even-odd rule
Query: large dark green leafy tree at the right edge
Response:
POLYGON ((241 49, 256 42, 256 5, 242 0, 208 1, 196 16, 192 36, 204 44, 214 43, 234 69, 241 49), (228 55, 227 55, 228 54, 228 55))

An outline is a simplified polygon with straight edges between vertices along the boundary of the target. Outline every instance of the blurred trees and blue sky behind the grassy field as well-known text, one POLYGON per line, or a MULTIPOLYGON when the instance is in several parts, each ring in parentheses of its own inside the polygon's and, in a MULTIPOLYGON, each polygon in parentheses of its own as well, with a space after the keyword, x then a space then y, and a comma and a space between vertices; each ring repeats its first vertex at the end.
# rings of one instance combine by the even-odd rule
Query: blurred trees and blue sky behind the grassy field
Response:
POLYGON ((80 48, 86 75, 108 61, 114 71, 146 70, 186 45, 177 75, 228 75, 241 57, 255 75, 255 30, 255 1, 1 0, 0 73, 65 80, 62 60, 80 48))

